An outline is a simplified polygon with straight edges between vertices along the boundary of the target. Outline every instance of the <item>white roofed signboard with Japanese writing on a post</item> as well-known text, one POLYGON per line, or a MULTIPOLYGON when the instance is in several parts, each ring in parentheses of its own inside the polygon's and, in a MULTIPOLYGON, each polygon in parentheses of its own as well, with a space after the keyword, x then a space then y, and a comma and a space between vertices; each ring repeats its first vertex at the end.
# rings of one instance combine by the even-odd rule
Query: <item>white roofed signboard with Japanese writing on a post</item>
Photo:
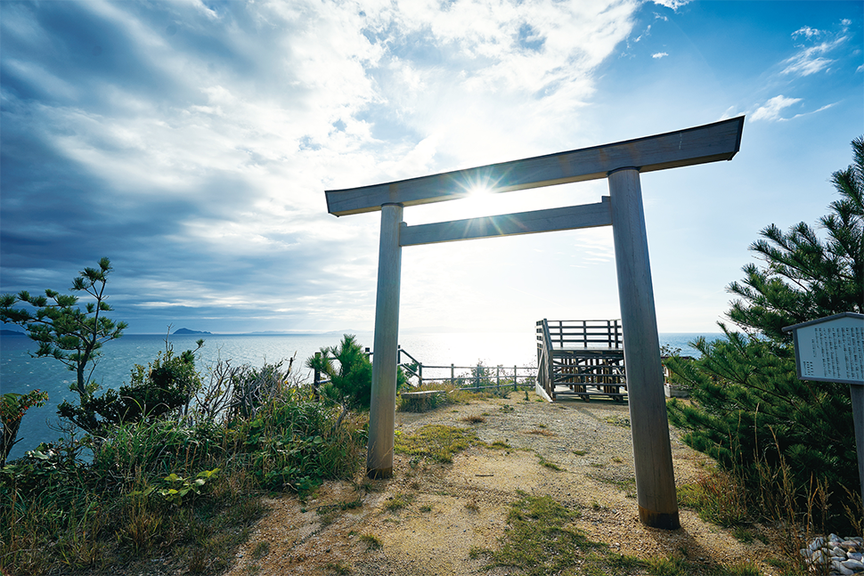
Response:
POLYGON ((864 314, 843 312, 787 326, 783 331, 792 332, 799 378, 849 385, 864 501, 864 314))

